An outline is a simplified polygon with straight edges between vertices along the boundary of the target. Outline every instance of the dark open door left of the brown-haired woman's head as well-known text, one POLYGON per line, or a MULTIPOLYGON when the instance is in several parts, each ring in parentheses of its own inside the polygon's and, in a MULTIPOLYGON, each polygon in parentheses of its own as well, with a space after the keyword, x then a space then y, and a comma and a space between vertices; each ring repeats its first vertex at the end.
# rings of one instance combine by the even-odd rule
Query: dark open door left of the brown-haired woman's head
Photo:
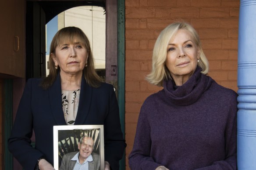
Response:
POLYGON ((36 1, 27 2, 26 14, 26 79, 43 77, 45 69, 46 14, 36 1))

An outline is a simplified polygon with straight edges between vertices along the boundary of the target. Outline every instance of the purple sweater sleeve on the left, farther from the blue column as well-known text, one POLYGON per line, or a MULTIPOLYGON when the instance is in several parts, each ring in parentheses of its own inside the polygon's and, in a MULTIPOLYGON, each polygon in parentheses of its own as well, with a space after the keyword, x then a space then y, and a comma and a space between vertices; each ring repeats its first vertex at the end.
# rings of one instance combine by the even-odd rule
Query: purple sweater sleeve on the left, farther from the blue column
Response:
POLYGON ((134 145, 128 157, 131 170, 155 170, 157 167, 161 166, 150 156, 150 124, 147 117, 150 109, 148 109, 148 104, 145 103, 146 102, 142 105, 139 113, 134 145))

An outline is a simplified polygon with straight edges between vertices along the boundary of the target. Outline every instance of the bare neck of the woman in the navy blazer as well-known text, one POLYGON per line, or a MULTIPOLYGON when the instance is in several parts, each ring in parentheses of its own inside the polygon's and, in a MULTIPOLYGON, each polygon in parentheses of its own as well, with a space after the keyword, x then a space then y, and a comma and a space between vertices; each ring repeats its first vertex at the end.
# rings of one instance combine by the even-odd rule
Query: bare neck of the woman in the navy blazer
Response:
POLYGON ((60 72, 62 90, 78 90, 81 88, 82 72, 77 74, 63 74, 60 72))

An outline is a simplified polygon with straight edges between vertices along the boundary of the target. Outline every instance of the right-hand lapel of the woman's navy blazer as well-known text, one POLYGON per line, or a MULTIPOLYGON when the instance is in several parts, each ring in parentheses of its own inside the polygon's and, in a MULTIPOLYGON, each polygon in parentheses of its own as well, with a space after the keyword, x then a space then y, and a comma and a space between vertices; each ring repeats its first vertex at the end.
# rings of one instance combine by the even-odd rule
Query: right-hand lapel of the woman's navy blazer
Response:
POLYGON ((75 125, 83 125, 89 112, 89 106, 92 98, 92 87, 86 81, 84 74, 82 75, 81 91, 78 104, 78 111, 75 118, 75 125))

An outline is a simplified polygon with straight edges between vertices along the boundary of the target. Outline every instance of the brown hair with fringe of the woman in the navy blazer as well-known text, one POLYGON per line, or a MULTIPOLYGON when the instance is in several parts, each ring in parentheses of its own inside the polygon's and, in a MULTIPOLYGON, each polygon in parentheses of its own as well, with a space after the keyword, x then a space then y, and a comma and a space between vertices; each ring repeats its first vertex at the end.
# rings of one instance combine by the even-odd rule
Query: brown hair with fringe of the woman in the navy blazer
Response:
MULTIPOLYGON (((65 27, 60 29, 53 37, 50 45, 50 54, 53 53, 55 55, 57 46, 66 42, 71 44, 79 42, 85 47, 88 53, 87 67, 83 69, 86 83, 88 83, 91 87, 100 87, 102 79, 100 76, 98 76, 94 68, 94 59, 92 56, 90 42, 85 33, 77 27, 65 27)), ((40 84, 43 89, 47 89, 53 85, 57 78, 57 73, 60 71, 60 67, 55 69, 55 64, 51 55, 49 56, 49 69, 49 75, 43 79, 40 84)))

